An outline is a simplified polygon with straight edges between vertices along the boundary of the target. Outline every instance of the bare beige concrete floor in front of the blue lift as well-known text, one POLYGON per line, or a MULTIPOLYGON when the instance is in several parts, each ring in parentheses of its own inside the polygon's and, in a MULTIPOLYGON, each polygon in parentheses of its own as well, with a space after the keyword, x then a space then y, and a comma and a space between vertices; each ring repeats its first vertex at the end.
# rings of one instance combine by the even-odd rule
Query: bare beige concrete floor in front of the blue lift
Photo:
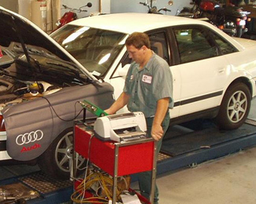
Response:
MULTIPOLYGON (((256 100, 248 118, 256 121, 256 100)), ((159 204, 255 204, 256 146, 157 178, 159 204)), ((136 189, 138 184, 133 183, 136 189)))

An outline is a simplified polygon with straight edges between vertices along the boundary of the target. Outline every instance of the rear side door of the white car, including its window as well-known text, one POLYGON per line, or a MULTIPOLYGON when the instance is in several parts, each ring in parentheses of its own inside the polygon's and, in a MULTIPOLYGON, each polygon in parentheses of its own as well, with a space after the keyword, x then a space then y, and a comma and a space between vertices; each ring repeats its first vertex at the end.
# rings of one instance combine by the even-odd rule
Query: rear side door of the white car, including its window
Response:
MULTIPOLYGON (((180 115, 216 108, 221 104, 231 66, 206 27, 173 27, 180 64, 180 115)), ((221 36, 219 36, 221 38, 221 36)))

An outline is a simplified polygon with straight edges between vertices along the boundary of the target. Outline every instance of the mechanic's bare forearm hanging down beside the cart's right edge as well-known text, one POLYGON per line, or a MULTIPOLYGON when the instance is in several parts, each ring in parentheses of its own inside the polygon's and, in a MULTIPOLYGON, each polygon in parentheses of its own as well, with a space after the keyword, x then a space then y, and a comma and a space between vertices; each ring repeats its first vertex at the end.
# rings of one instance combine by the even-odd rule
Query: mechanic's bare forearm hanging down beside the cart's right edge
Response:
POLYGON ((151 136, 154 140, 160 140, 164 134, 164 131, 161 127, 161 122, 163 122, 166 111, 169 107, 169 98, 162 98, 158 100, 157 111, 154 115, 154 121, 151 129, 151 136))

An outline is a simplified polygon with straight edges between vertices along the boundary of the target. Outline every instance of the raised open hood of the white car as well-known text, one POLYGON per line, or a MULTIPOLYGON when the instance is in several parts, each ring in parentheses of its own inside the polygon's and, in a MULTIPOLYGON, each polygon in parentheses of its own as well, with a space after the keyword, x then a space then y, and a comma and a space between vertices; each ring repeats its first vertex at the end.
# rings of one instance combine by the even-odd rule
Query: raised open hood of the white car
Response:
POLYGON ((28 62, 28 56, 39 54, 40 56, 65 60, 65 62, 76 64, 76 69, 91 80, 97 80, 43 30, 23 16, 0 6, 0 48, 1 47, 2 49, 9 48, 9 53, 7 53, 9 57, 0 57, 0 64, 8 63, 8 61, 11 60, 10 58, 17 56, 17 53, 19 55, 20 53, 24 53, 28 62))

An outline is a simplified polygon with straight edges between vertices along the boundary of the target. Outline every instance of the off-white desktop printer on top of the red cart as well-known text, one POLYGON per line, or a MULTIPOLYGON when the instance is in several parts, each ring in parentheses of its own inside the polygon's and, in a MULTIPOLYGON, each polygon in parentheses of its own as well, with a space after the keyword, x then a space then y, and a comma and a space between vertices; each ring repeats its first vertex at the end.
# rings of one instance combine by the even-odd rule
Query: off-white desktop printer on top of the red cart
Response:
POLYGON ((95 137, 100 140, 124 142, 147 137, 147 125, 143 112, 106 115, 97 118, 94 130, 95 137))

